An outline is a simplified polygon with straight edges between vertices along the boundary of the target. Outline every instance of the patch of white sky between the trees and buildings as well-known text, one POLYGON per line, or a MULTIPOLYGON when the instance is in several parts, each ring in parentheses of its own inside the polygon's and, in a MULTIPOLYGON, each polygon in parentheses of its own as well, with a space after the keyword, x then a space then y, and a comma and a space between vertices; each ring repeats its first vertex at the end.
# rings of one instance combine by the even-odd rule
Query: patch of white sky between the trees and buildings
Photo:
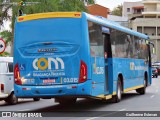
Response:
POLYGON ((113 8, 123 4, 123 2, 136 2, 136 1, 142 1, 142 0, 96 0, 96 3, 104 7, 107 7, 110 10, 113 10, 113 8))

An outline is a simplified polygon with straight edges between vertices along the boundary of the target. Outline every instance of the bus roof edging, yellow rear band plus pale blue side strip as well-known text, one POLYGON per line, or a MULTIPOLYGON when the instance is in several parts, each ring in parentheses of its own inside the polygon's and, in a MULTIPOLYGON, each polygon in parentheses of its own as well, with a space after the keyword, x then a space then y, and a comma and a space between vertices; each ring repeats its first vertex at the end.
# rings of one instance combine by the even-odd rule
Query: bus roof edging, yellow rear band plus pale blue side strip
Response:
MULTIPOLYGON (((83 16, 85 16, 87 20, 103 25, 105 27, 113 28, 113 29, 131 34, 143 39, 149 39, 149 37, 145 34, 136 32, 134 30, 130 30, 129 28, 123 27, 114 21, 107 20, 106 18, 97 17, 85 12, 82 12, 82 13, 81 12, 49 12, 49 13, 30 14, 30 15, 19 16, 17 19, 17 22, 24 22, 28 20, 45 19, 45 18, 62 18, 62 17, 63 18, 81 18, 83 16)), ((107 29, 105 29, 105 31, 106 33, 107 32, 109 33, 107 29)))

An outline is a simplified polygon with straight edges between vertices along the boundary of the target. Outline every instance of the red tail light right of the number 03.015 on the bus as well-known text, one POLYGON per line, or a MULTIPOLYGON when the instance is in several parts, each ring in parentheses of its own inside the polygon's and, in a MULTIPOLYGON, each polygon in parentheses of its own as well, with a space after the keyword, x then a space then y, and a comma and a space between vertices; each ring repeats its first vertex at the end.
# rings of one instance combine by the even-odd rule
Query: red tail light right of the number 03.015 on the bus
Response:
POLYGON ((87 80, 87 65, 85 62, 81 61, 79 83, 83 83, 87 80))

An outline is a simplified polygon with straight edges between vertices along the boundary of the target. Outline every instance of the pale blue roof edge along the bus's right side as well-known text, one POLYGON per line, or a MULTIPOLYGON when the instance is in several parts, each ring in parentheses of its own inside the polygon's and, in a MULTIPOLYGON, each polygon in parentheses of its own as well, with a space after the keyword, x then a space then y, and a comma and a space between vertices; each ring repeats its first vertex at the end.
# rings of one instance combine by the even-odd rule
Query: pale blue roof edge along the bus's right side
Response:
POLYGON ((122 32, 131 34, 131 35, 143 38, 143 39, 149 39, 149 36, 142 34, 142 33, 139 33, 139 32, 136 32, 134 30, 130 30, 129 28, 123 27, 114 21, 107 20, 103 17, 96 17, 96 16, 90 15, 85 12, 83 14, 85 14, 85 16, 87 17, 87 20, 89 20, 89 21, 95 22, 97 24, 100 24, 100 25, 103 25, 103 26, 106 26, 106 27, 109 27, 112 29, 122 31, 122 32))

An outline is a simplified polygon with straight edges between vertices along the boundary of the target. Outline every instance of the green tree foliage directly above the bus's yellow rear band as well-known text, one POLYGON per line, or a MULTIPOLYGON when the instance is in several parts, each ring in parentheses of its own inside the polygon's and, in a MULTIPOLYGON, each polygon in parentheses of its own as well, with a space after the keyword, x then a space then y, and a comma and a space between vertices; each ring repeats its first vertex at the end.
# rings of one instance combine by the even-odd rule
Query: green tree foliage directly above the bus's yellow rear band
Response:
MULTIPOLYGON (((15 1, 15 0, 12 0, 15 1)), ((17 0, 18 2, 19 0, 17 0)), ((13 6, 12 15, 12 30, 14 28, 14 21, 18 16, 18 10, 21 9, 24 14, 57 12, 57 11, 87 11, 85 5, 80 0, 26 0, 32 2, 26 6, 13 6)))

